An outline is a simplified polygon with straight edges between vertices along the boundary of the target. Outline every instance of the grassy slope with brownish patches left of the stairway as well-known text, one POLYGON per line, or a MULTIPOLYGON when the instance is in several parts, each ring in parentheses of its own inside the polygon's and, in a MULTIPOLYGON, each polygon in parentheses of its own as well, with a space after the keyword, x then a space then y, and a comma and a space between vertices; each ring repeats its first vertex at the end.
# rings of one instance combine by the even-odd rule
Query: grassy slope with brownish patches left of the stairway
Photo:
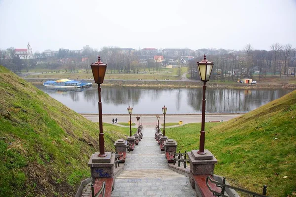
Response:
MULTIPOLYGON (((104 125, 105 151, 129 128, 104 125)), ((0 197, 74 196, 98 125, 0 66, 0 197)))

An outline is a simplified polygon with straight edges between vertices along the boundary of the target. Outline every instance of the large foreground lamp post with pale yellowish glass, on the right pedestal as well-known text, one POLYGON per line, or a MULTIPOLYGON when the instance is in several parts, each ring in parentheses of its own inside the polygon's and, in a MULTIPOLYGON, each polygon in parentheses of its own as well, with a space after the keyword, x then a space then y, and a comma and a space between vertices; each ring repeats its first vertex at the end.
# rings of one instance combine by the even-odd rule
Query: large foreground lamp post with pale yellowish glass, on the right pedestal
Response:
POLYGON ((200 80, 203 81, 203 99, 202 99, 202 114, 201 114, 201 131, 199 140, 199 150, 198 154, 204 155, 205 152, 205 114, 206 114, 206 82, 210 80, 214 62, 207 60, 206 55, 201 62, 197 62, 197 67, 199 70, 200 80))

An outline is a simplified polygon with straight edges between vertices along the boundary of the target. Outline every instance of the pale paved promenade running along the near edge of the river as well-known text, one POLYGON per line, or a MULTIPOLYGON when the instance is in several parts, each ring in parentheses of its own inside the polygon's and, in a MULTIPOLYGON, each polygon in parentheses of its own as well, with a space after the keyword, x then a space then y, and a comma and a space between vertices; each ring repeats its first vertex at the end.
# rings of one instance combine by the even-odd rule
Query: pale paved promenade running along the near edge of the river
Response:
MULTIPOLYGON (((81 114, 88 120, 91 120, 93 122, 99 122, 99 118, 97 114, 81 114)), ((228 121, 233 118, 236 118, 238 116, 241 116, 243 114, 209 114, 206 115, 206 122, 210 121, 228 121)), ((132 115, 132 122, 137 123, 136 115, 132 115)), ((163 114, 159 114, 160 120, 159 124, 163 123, 163 114)), ((104 123, 112 123, 112 119, 118 119, 118 122, 125 122, 128 123, 129 121, 129 115, 104 115, 103 114, 103 122, 104 123)), ((183 124, 187 123, 200 123, 201 122, 201 115, 166 115, 165 116, 165 122, 166 123, 178 123, 179 121, 182 121, 183 124)), ((156 125, 156 115, 142 115, 142 125, 147 128, 153 128, 156 125)), ((137 127, 137 126, 134 126, 137 127)))

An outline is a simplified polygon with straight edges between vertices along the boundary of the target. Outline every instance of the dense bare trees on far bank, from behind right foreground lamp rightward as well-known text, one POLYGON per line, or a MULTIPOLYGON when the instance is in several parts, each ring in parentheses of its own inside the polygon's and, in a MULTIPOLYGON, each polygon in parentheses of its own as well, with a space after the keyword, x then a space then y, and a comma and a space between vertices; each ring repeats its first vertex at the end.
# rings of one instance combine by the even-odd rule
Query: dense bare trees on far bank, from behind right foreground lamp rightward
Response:
MULTIPOLYGON (((202 56, 196 57, 188 62, 192 78, 197 77, 196 62, 202 58, 202 56)), ((221 81, 235 81, 242 77, 252 78, 254 73, 258 73, 259 78, 267 75, 282 76, 296 73, 296 49, 292 48, 291 44, 275 43, 270 46, 269 51, 254 50, 250 44, 247 44, 242 51, 220 55, 208 54, 207 59, 214 61, 215 64, 213 78, 221 81)))

